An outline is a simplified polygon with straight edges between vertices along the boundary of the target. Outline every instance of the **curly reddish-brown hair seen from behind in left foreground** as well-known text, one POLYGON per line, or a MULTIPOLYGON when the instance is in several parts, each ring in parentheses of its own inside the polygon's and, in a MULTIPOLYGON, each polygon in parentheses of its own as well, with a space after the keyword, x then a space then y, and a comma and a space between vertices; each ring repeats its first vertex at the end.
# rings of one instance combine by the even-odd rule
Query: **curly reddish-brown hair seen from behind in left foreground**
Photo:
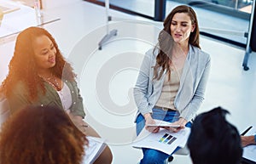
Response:
POLYGON ((80 164, 88 144, 64 110, 28 106, 3 123, 1 164, 80 164))

